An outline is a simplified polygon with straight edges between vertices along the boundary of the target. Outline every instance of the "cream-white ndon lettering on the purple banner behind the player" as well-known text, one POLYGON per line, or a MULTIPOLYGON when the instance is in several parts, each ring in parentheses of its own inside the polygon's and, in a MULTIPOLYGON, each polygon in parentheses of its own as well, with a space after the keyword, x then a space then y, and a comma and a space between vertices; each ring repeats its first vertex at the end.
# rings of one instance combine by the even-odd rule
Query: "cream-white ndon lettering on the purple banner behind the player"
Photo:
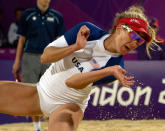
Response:
MULTIPOLYGON (((165 84, 165 79, 162 79, 162 84, 165 84)), ((137 86, 135 90, 127 87, 119 88, 119 82, 115 81, 112 87, 109 87, 109 85, 102 86, 102 88, 95 87, 91 91, 91 95, 93 95, 92 105, 105 106, 109 104, 114 106, 115 102, 118 102, 121 106, 126 107, 129 105, 138 106, 140 101, 143 101, 143 105, 148 106, 151 101, 152 90, 150 86, 137 86), (124 93, 127 94, 127 99, 123 98, 124 93)), ((165 104, 165 90, 159 92, 156 101, 159 104, 165 104)))

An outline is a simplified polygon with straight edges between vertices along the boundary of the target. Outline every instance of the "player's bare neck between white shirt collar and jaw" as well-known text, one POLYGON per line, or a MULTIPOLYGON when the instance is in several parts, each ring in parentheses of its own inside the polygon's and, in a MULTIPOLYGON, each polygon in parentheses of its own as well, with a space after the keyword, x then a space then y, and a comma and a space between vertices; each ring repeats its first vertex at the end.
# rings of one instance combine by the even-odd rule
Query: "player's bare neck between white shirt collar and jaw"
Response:
POLYGON ((117 53, 116 52, 116 48, 115 48, 115 39, 114 39, 114 35, 110 35, 107 39, 104 40, 104 47, 107 51, 111 52, 111 53, 117 53))

